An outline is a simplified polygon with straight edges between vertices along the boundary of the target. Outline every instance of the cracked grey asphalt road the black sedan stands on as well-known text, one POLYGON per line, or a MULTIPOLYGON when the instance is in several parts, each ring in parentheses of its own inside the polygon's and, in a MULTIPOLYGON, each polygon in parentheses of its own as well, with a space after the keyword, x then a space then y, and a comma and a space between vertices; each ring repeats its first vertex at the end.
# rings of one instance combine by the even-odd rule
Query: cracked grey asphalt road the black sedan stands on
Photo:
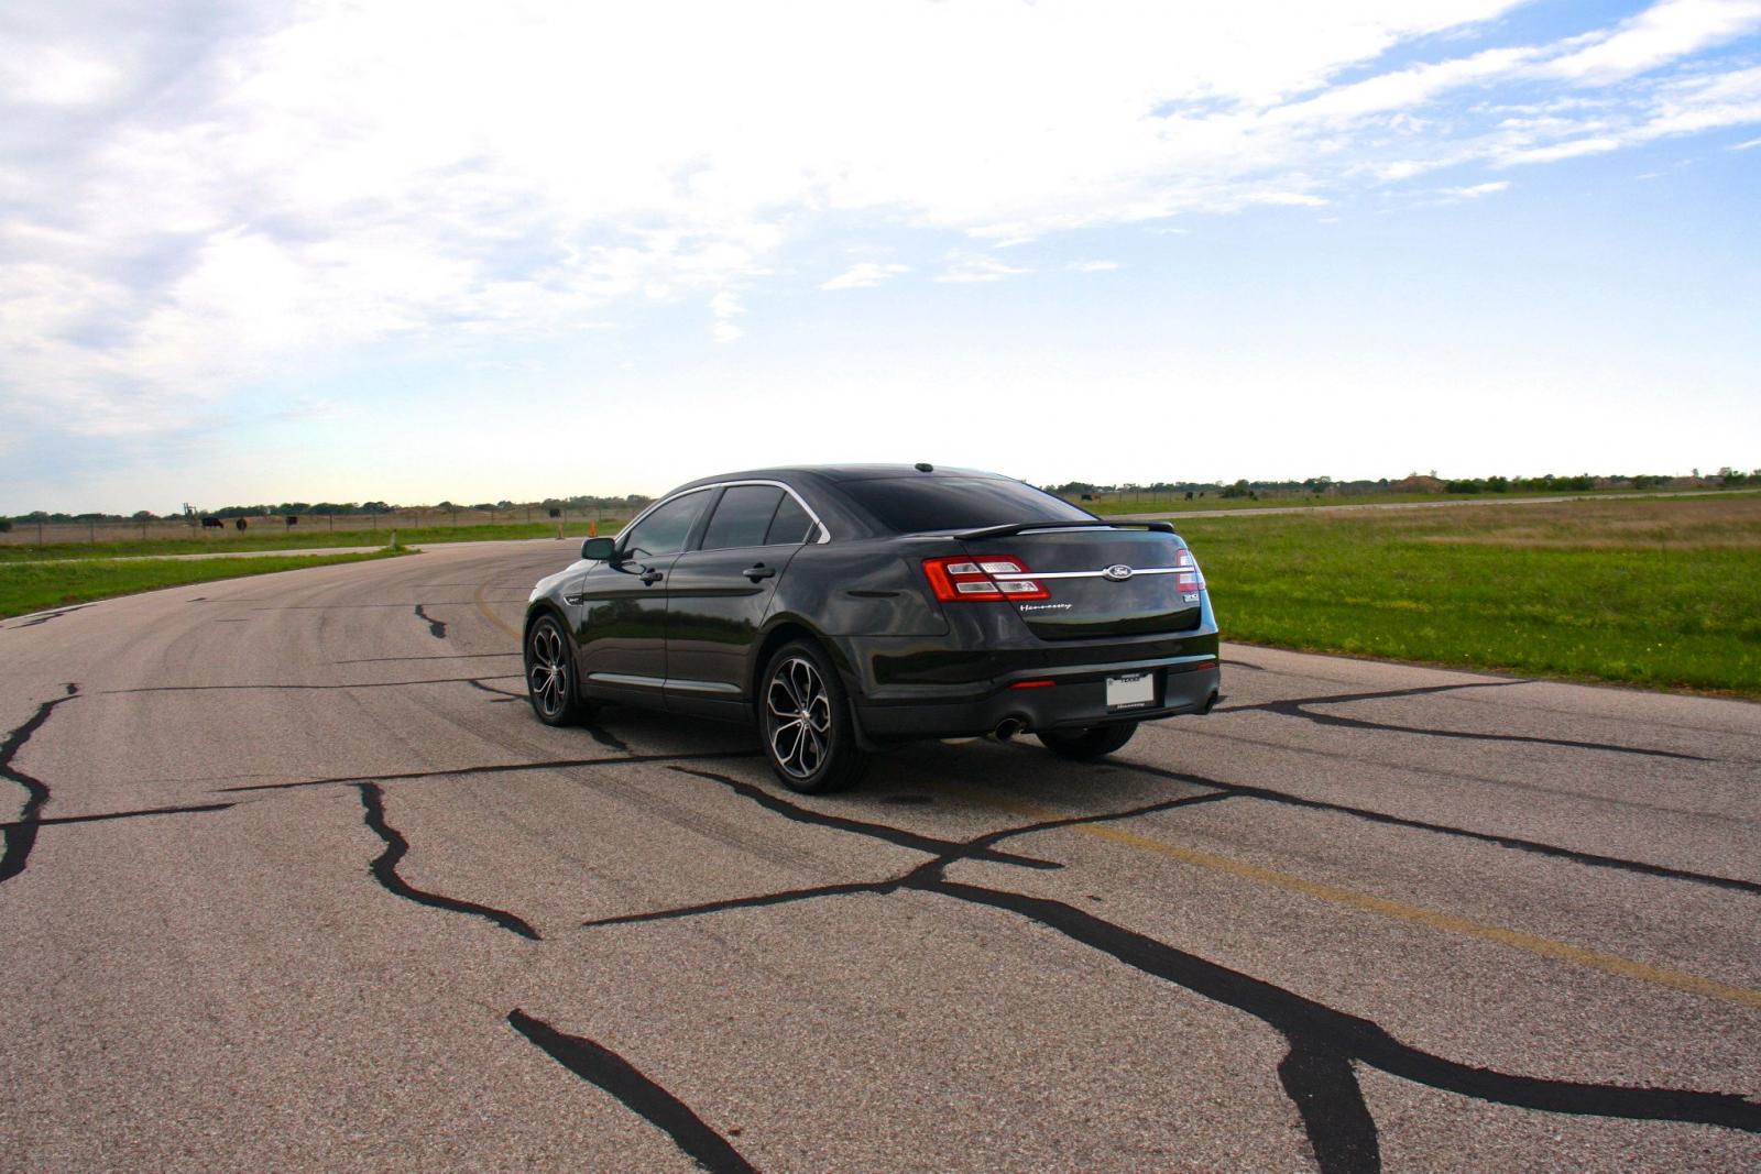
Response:
POLYGON ((0 1167, 1761 1167, 1761 708, 1229 648, 803 799, 532 718, 567 558, 0 623, 0 1167))

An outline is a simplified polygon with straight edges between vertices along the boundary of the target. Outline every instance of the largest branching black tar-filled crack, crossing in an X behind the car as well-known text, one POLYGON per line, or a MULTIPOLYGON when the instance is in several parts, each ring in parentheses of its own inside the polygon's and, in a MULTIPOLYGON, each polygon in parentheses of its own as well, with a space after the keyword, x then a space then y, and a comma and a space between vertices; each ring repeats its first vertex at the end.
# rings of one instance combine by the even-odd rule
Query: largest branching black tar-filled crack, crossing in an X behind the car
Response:
MULTIPOLYGON (((882 840, 886 843, 898 843, 900 831, 893 827, 861 824, 858 820, 838 820, 836 817, 826 817, 794 801, 784 799, 782 796, 764 792, 750 783, 738 783, 736 780, 704 771, 689 771, 685 767, 673 769, 683 774, 694 774, 717 783, 731 785, 736 794, 752 797, 766 810, 792 822, 812 824, 817 827, 831 825, 840 831, 882 840)), ((1426 1088, 1435 1088, 1439 1091, 1520 1109, 1537 1109, 1544 1112, 1576 1116, 1685 1121, 1761 1134, 1761 1104, 1735 1093, 1708 1093, 1675 1088, 1631 1088, 1587 1081, 1550 1081, 1458 1063, 1404 1044, 1368 1019, 1335 1010, 1296 994, 1294 991, 1286 991, 1284 987, 1261 979, 1238 973, 1196 954, 1189 954, 1146 935, 1095 917, 1094 914, 1079 910, 1072 905, 1065 905, 1064 901, 956 882, 949 880, 946 875, 951 864, 979 859, 977 854, 981 850, 990 850, 1002 840, 1014 836, 1027 836, 1076 824, 1131 818, 1134 815, 1166 811, 1176 806, 1190 806, 1194 803, 1219 801, 1224 797, 1234 796, 1227 790, 1220 790, 1199 796, 1183 796, 1182 799, 1160 804, 1145 804, 1143 808, 1132 808, 1129 811, 1078 815, 1007 827, 951 845, 949 850, 903 875, 875 882, 796 889, 789 892, 741 898, 738 901, 659 910, 636 917, 606 919, 588 924, 604 926, 627 924, 632 921, 666 921, 715 914, 727 908, 755 908, 764 905, 808 901, 821 896, 849 896, 852 892, 873 892, 884 896, 898 891, 928 892, 963 901, 967 905, 1014 914, 1016 917, 1064 935, 1071 942, 1108 954, 1118 963, 1145 975, 1160 979, 1215 1003, 1254 1016, 1271 1030, 1278 1031, 1289 1044, 1289 1053, 1278 1065, 1278 1082, 1286 1090, 1286 1095, 1293 1100, 1296 1112, 1303 1121, 1303 1130, 1308 1135, 1308 1144, 1314 1149, 1315 1163, 1323 1174, 1381 1169, 1375 1119, 1370 1116, 1368 1105, 1365 1104, 1356 1081, 1354 1067, 1359 1065, 1377 1068, 1388 1075, 1423 1084, 1426 1088)))

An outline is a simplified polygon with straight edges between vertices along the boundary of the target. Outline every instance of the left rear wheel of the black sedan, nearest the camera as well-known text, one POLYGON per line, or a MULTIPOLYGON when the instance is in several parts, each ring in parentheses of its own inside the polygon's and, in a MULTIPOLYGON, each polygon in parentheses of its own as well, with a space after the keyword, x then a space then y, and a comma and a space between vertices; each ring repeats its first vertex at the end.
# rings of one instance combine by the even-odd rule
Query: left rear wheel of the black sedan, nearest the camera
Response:
POLYGON ((851 699, 817 644, 789 641, 771 655, 757 711, 764 757, 784 787, 819 796, 861 781, 868 757, 856 745, 851 699))

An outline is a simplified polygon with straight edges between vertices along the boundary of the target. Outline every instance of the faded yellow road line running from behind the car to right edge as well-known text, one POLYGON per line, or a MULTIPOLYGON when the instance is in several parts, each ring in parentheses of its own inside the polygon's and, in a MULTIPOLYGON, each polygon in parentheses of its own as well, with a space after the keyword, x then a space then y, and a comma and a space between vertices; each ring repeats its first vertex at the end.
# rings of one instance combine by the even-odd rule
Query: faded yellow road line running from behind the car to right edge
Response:
MULTIPOLYGON (((946 794, 962 799, 970 799, 974 803, 983 803, 986 806, 998 808, 1013 815, 1025 815, 1030 818, 1067 818, 1071 815, 1069 811, 1048 811, 1044 808, 1035 808, 1027 803, 991 796, 986 792, 967 790, 963 787, 949 787, 946 783, 932 783, 932 785, 946 794)), ((1407 905, 1405 901, 1393 901, 1389 898, 1379 898, 1368 892, 1358 892, 1356 889, 1342 889, 1340 885, 1330 885, 1319 880, 1308 880, 1307 877, 1280 873, 1273 868, 1264 868, 1261 864, 1249 864, 1247 861, 1236 861, 1227 855, 1217 855, 1215 852, 1201 852, 1199 848, 1185 848, 1175 843, 1150 840, 1148 836, 1139 836, 1138 833, 1125 831, 1124 827, 1113 827, 1108 824, 1072 824, 1062 831, 1095 836, 1099 840, 1108 840, 1111 843, 1125 845, 1127 848, 1138 848, 1139 852, 1153 852, 1157 855, 1176 859, 1182 864, 1192 864, 1196 868, 1206 868, 1210 871, 1227 873, 1231 877, 1252 880, 1256 884, 1270 885, 1273 889, 1284 889, 1286 892, 1300 892, 1317 901, 1344 905, 1345 908, 1365 910, 1368 914, 1393 917, 1395 921, 1407 921, 1419 926, 1430 926, 1432 929, 1440 929, 1444 933, 1458 933, 1462 936, 1477 938, 1481 942, 1497 942, 1499 945, 1507 945, 1516 950, 1527 950, 1530 954, 1539 954, 1541 958, 1551 958, 1555 961, 1576 963, 1578 966, 1588 966, 1590 970, 1603 970, 1606 973, 1622 975, 1624 979, 1652 982, 1655 986, 1666 986, 1676 991, 1691 991, 1694 994, 1705 994, 1706 998, 1717 998, 1728 1003, 1745 1003, 1749 1007, 1761 1007, 1761 991, 1756 991, 1752 987, 1733 986, 1729 982, 1717 982, 1715 979, 1701 979, 1699 975, 1684 973, 1680 970, 1652 966, 1650 963, 1632 961, 1631 958, 1620 958, 1618 954, 1604 954, 1603 950, 1592 950, 1581 945, 1571 945, 1569 942, 1555 942, 1553 938, 1543 938, 1532 933, 1523 933, 1520 929, 1488 926, 1486 922, 1474 921, 1472 917, 1460 917, 1456 914, 1444 914, 1419 905, 1407 905)))

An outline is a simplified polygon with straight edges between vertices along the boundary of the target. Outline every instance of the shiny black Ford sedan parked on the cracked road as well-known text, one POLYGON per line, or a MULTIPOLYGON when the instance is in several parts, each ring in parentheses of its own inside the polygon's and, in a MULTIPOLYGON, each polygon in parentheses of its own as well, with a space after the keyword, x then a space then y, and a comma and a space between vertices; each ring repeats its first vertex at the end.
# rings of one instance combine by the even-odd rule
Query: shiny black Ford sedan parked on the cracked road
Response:
POLYGON ((1205 577, 1168 523, 1106 521, 995 473, 766 468, 680 486, 532 590, 541 722, 604 702, 757 722, 794 790, 914 737, 1094 759, 1208 713, 1205 577))

